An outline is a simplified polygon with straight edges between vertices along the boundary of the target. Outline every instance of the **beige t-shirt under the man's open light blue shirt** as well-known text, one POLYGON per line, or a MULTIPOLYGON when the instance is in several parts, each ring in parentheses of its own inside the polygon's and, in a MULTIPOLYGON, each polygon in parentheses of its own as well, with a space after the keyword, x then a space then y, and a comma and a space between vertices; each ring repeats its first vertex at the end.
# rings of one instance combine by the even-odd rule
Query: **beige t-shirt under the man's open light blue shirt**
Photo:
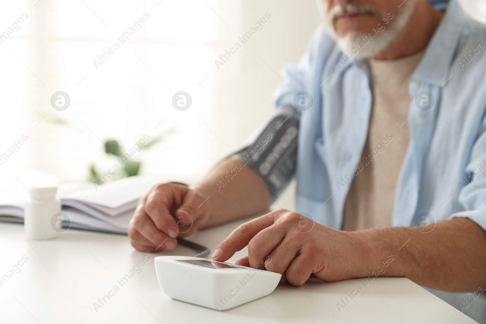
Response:
MULTIPOLYGON (((408 83, 424 51, 397 60, 369 60, 373 103, 361 171, 344 207, 343 229, 391 226, 395 188, 409 142, 408 83)), ((360 169, 358 169, 360 170, 360 169)))

